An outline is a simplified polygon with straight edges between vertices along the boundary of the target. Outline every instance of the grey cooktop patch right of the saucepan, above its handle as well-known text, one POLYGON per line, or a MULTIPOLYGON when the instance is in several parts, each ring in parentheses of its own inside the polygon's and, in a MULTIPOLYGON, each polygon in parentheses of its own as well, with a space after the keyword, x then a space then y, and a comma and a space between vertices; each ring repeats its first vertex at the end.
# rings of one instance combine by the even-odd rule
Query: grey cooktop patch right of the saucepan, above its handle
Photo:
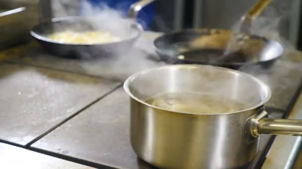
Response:
POLYGON ((272 97, 266 106, 281 110, 286 110, 302 84, 302 62, 279 59, 271 69, 252 66, 242 70, 270 86, 272 97))

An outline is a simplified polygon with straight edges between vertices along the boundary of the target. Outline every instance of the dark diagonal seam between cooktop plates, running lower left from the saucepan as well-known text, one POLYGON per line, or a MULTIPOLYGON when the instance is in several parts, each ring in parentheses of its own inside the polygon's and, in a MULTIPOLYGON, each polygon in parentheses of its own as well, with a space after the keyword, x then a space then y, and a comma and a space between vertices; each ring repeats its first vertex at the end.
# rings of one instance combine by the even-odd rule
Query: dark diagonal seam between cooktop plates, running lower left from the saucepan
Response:
POLYGON ((58 123, 57 125, 55 125, 54 127, 51 127, 50 129, 46 130, 44 133, 42 133, 41 135, 37 136, 36 138, 34 138, 32 141, 28 142, 24 147, 28 148, 30 145, 32 145, 33 143, 35 143, 36 141, 38 141, 39 139, 41 139, 42 137, 44 137, 45 135, 47 135, 48 133, 52 132, 53 130, 55 130, 57 127, 62 126, 64 123, 68 122, 69 120, 71 120, 72 118, 74 118, 76 115, 78 115, 79 113, 81 113, 82 111, 86 110, 87 108, 89 108, 91 105, 93 105, 94 103, 98 102, 99 100, 101 100, 102 98, 106 97, 107 95, 109 95, 110 93, 116 91, 118 88, 120 88, 123 84, 119 84, 118 86, 116 86, 114 89, 108 91, 107 93, 105 93, 104 95, 102 95, 101 97, 98 97, 96 100, 92 101, 91 103, 87 104, 86 106, 84 106, 83 108, 81 108, 80 110, 76 111, 73 115, 69 116, 68 118, 64 119, 62 122, 58 123))

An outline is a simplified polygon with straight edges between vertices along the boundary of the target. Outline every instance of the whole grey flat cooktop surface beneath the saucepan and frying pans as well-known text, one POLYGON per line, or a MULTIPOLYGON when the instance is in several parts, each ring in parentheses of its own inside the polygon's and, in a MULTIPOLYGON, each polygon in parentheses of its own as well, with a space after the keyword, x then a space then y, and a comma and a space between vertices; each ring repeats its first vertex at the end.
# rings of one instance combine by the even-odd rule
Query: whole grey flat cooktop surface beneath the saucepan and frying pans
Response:
MULTIPOLYGON (((165 65, 152 45, 158 35, 144 33, 115 59, 51 56, 35 42, 0 51, 0 142, 96 168, 152 168, 131 148, 129 99, 121 85, 137 71, 165 65)), ((302 54, 295 54, 271 69, 242 70, 272 88, 266 105, 271 117, 284 117, 300 92, 302 54)), ((274 137, 261 139, 255 168, 274 137)))

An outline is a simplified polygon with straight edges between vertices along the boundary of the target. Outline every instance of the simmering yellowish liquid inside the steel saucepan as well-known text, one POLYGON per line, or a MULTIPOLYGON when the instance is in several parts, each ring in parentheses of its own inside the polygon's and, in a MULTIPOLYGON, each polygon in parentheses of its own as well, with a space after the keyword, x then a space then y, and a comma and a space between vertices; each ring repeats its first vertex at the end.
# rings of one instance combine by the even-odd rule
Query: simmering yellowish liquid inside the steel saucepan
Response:
POLYGON ((229 113, 247 108, 246 103, 231 98, 192 92, 159 94, 145 102, 170 111, 199 114, 229 113))

